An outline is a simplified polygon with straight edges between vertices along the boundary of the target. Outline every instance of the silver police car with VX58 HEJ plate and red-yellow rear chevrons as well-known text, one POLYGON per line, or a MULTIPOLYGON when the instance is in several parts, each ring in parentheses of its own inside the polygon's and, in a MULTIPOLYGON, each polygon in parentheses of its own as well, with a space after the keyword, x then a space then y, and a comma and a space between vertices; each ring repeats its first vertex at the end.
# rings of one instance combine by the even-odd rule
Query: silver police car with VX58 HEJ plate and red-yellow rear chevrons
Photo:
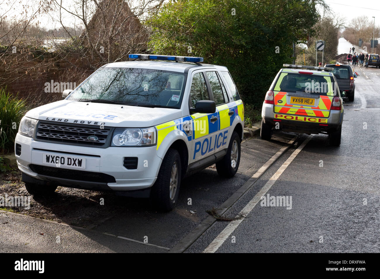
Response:
POLYGON ((345 91, 339 91, 333 68, 289 65, 272 82, 261 110, 261 138, 272 130, 328 134, 330 145, 340 145, 345 91))

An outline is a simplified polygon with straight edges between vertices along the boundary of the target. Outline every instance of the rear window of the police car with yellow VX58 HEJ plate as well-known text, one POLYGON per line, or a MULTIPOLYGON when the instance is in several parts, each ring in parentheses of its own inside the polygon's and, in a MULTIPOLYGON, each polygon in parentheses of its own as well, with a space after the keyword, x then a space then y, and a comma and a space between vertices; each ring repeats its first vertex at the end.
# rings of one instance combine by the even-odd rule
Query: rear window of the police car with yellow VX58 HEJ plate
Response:
POLYGON ((299 73, 281 73, 275 91, 310 93, 311 95, 334 96, 333 80, 330 76, 299 73))

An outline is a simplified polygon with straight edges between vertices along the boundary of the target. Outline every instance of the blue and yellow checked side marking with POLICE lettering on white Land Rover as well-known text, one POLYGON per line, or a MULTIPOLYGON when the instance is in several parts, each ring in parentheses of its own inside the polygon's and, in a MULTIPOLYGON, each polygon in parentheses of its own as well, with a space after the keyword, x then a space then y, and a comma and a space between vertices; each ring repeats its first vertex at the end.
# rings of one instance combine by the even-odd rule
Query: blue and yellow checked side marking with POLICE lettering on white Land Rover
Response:
MULTIPOLYGON (((237 116, 239 116, 242 120, 244 119, 244 107, 243 102, 241 100, 217 106, 215 113, 194 113, 191 116, 181 117, 176 120, 157 125, 157 150, 160 147, 163 140, 165 139, 165 137, 171 131, 182 131, 187 137, 188 141, 196 140, 230 127, 235 117, 237 116), (230 110, 233 112, 231 116, 228 114, 230 110), (212 122, 212 118, 215 117, 217 117, 218 120, 212 122), (188 136, 184 128, 186 124, 190 123, 190 121, 192 122, 191 128, 193 132, 190 136, 188 136)), ((209 137, 206 137, 205 139, 203 139, 203 142, 195 142, 194 158, 195 154, 199 151, 202 155, 204 155, 206 153, 214 151, 215 148, 217 149, 220 146, 224 145, 227 134, 228 131, 224 131, 211 137, 211 139, 209 139, 209 137), (204 151, 205 148, 203 148, 202 145, 203 147, 207 145, 207 151, 204 151)))

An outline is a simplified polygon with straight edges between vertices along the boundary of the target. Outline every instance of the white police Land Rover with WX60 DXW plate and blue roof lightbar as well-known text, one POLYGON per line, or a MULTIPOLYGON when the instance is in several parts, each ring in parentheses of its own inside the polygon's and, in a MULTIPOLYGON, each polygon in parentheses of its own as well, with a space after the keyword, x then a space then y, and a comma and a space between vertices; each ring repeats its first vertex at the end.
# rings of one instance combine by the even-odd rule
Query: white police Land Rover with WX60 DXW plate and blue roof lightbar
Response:
POLYGON ((143 61, 102 66, 22 118, 15 153, 30 194, 113 190, 171 210, 186 174, 216 163, 219 175, 235 175, 244 107, 227 68, 201 57, 129 57, 143 61))

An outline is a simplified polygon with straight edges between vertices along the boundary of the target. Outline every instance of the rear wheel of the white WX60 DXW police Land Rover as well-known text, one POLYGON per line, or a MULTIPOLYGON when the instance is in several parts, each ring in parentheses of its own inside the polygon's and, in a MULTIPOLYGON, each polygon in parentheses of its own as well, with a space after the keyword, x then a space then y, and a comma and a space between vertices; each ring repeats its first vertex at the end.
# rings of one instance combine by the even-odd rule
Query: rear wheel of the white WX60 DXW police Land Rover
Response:
POLYGON ((215 164, 220 177, 231 178, 236 174, 237 169, 239 169, 241 156, 240 142, 239 135, 234 131, 228 144, 227 153, 222 160, 215 164))

